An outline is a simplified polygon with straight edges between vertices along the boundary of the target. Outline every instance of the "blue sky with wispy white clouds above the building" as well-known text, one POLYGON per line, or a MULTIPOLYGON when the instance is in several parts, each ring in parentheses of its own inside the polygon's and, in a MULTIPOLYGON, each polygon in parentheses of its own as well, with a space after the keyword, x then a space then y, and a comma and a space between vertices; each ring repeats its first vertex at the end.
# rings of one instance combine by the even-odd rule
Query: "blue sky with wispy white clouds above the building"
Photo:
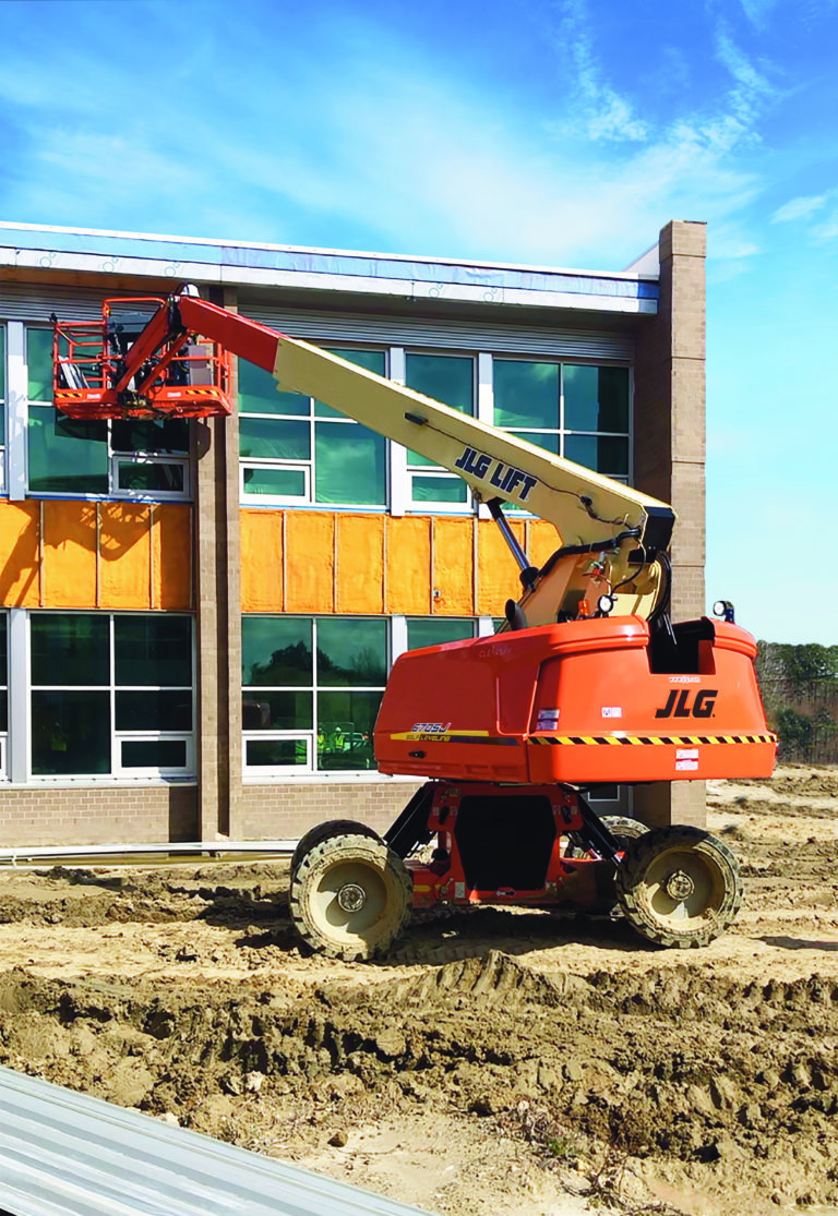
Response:
POLYGON ((0 219, 619 270, 708 224, 707 596, 838 644, 838 0, 0 0, 0 219))

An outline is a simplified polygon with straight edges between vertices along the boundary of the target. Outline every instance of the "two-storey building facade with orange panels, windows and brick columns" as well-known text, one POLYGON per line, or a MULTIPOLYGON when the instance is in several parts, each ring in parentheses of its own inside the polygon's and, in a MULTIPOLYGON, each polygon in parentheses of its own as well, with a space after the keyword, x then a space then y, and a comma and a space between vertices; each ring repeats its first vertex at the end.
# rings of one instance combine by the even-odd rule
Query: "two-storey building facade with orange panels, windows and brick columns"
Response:
MULTIPOLYGON (((444 469, 237 366, 237 416, 73 422, 51 322, 184 281, 671 502, 674 613, 704 612, 704 243, 615 274, 0 225, 0 844, 383 828, 393 659, 494 631, 517 567, 444 469)), ((514 516, 533 563, 553 528, 514 516)), ((701 822, 698 783, 595 792, 701 822), (632 801, 630 801, 632 799, 632 801)))

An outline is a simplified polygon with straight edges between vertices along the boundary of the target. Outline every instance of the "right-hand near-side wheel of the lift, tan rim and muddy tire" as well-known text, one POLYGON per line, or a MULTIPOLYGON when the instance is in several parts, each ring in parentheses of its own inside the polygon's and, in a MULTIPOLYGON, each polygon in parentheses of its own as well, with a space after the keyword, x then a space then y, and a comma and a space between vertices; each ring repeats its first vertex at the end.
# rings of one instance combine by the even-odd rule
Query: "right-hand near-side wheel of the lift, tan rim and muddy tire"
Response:
POLYGON ((742 903, 738 861, 701 828, 646 832, 630 843, 615 878, 626 921, 660 946, 707 946, 730 929, 742 903))

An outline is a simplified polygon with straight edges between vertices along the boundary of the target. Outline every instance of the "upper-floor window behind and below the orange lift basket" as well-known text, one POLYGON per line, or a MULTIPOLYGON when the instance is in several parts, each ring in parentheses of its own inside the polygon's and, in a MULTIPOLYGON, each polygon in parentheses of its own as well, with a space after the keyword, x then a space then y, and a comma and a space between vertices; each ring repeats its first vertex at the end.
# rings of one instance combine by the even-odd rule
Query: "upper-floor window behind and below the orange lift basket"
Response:
POLYGON ((52 331, 27 330, 26 347, 30 494, 133 499, 189 496, 190 430, 186 418, 111 422, 67 418, 51 404, 52 331), (165 461, 164 456, 178 460, 165 461))

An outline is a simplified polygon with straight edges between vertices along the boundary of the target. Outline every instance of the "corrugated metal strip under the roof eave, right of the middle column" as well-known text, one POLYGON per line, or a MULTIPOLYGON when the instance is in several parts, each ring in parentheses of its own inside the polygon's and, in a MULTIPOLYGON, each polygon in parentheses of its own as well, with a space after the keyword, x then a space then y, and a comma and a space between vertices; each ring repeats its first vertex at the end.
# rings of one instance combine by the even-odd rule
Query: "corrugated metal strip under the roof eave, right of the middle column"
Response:
POLYGON ((510 354, 561 355, 632 362, 630 333, 607 330, 559 330, 524 325, 487 326, 479 321, 431 321, 412 317, 247 308, 242 313, 292 338, 311 342, 369 342, 377 345, 433 347, 442 350, 491 350, 510 354))

